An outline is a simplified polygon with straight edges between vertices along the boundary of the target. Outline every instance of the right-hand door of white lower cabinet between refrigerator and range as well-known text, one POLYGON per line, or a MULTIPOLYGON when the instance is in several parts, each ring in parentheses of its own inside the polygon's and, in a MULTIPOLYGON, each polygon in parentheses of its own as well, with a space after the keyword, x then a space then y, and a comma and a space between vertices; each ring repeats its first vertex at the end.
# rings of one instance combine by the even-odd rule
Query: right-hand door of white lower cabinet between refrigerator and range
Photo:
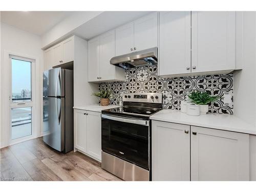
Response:
POLYGON ((101 113, 87 113, 87 153, 101 160, 101 113))

